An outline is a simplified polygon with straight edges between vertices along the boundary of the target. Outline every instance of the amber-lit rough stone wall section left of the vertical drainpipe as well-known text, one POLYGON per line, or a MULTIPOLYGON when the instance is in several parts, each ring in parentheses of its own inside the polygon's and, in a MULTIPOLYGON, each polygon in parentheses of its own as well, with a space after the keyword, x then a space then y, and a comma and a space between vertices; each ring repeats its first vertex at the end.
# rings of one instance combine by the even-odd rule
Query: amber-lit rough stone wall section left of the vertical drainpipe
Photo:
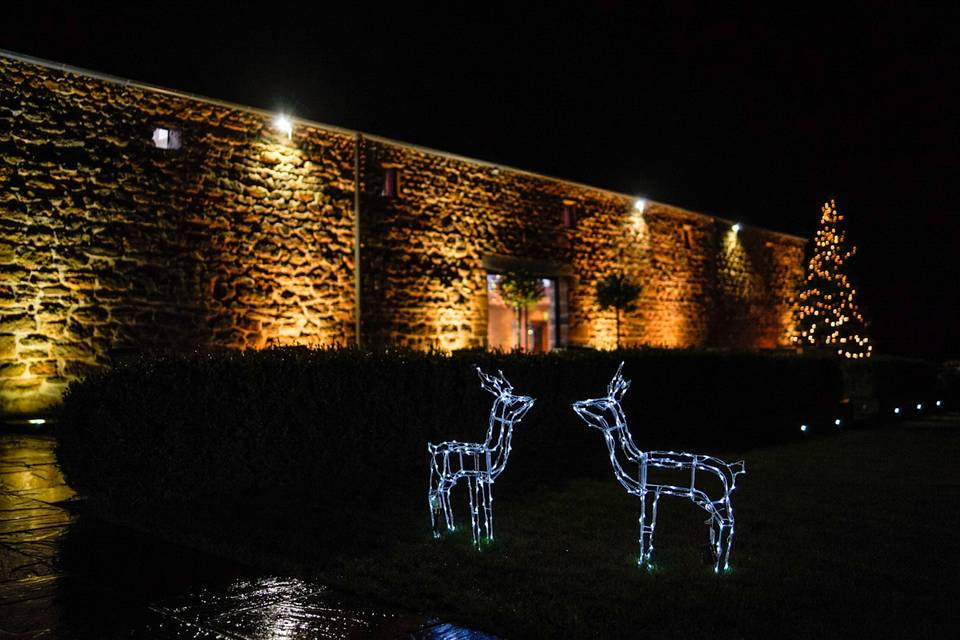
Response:
POLYGON ((352 341, 353 149, 0 57, 0 413, 118 347, 352 341))

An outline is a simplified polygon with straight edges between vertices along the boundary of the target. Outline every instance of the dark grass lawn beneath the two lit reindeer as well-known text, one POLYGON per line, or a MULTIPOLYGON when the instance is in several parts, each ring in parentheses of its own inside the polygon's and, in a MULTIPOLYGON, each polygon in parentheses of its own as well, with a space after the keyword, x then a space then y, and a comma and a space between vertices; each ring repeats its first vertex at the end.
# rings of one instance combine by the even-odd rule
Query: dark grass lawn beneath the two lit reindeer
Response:
POLYGON ((321 576, 511 638, 956 637, 960 418, 725 457, 748 469, 727 575, 704 564, 705 516, 687 501, 661 500, 648 572, 635 565, 637 501, 612 473, 531 493, 508 467, 492 547, 471 548, 464 493, 467 530, 432 540, 424 497, 358 520, 391 534, 361 535, 366 552, 321 576))

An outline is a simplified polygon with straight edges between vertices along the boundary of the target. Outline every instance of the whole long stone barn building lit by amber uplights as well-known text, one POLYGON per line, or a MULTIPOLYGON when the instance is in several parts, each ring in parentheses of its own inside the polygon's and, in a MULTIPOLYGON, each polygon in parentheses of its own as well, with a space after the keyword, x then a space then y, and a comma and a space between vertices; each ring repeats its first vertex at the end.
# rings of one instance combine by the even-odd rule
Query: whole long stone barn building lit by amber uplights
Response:
POLYGON ((0 414, 118 348, 788 344, 805 240, 635 196, 0 54, 0 414))

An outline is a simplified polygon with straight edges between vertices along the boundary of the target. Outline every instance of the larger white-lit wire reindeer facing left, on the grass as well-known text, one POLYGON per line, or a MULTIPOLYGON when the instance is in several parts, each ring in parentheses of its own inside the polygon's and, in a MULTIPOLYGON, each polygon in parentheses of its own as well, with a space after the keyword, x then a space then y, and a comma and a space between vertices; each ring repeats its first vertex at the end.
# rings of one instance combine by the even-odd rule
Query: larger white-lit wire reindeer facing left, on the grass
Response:
MULTIPOLYGON (((633 436, 627 428, 627 417, 620 407, 620 399, 630 386, 621 375, 623 363, 617 369, 610 384, 607 396, 595 400, 581 400, 573 403, 577 412, 588 426, 603 431, 610 450, 610 462, 613 472, 623 488, 640 497, 640 565, 650 566, 653 553, 653 530, 657 526, 657 501, 661 495, 679 496, 692 500, 705 510, 710 517, 710 547, 713 551, 713 570, 730 567, 730 547, 733 544, 733 507, 730 494, 736 488, 737 476, 746 473, 743 461, 727 464, 712 456, 675 451, 641 451, 633 442, 633 436), (634 466, 636 465, 636 466, 634 466), (647 471, 651 467, 660 469, 690 470, 690 483, 683 486, 653 484, 647 480, 647 471), (636 468, 638 476, 627 471, 636 468), (703 474, 720 479, 723 494, 711 498, 706 491, 697 487, 697 481, 703 474)), ((702 483, 701 483, 702 486, 702 483)))

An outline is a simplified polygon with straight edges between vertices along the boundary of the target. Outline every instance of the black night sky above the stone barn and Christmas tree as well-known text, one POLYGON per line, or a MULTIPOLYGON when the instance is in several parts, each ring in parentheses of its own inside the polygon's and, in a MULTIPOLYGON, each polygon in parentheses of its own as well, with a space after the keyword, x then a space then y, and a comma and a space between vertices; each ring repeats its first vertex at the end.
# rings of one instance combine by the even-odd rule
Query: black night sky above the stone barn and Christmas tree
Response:
POLYGON ((954 13, 12 4, 19 53, 805 236, 835 197, 878 348, 960 357, 954 13))

